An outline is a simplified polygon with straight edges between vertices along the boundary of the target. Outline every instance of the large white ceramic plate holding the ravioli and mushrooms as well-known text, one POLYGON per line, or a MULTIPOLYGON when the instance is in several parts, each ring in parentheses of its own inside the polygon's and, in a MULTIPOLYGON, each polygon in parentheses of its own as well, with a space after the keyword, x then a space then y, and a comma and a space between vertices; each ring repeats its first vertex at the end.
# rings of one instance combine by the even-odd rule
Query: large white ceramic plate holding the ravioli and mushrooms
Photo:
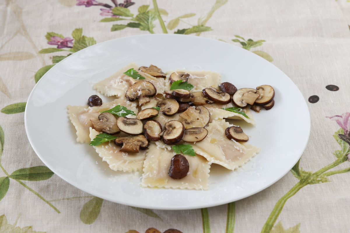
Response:
POLYGON ((25 111, 30 144, 54 173, 97 197, 148 209, 196 209, 225 204, 255 194, 279 180, 306 147, 310 116, 299 89, 278 68, 237 46, 185 35, 140 35, 90 46, 51 68, 31 92, 25 111), (231 171, 213 165, 209 190, 140 187, 140 173, 114 172, 93 147, 76 142, 66 106, 85 105, 96 94, 92 84, 123 66, 156 65, 219 72, 238 88, 271 85, 275 106, 254 114, 256 126, 242 124, 249 143, 261 152, 231 171))

